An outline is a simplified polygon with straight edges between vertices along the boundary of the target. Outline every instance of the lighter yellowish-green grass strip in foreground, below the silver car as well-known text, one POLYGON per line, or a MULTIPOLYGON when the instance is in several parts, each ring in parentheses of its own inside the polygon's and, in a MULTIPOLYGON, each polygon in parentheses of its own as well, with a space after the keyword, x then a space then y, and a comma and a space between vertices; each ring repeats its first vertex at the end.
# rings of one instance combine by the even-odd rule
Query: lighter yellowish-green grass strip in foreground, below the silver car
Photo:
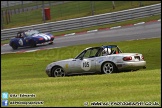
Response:
POLYGON ((2 91, 33 93, 36 98, 19 101, 44 101, 44 106, 83 106, 84 102, 158 102, 160 104, 160 69, 64 78, 24 78, 6 80, 2 91))

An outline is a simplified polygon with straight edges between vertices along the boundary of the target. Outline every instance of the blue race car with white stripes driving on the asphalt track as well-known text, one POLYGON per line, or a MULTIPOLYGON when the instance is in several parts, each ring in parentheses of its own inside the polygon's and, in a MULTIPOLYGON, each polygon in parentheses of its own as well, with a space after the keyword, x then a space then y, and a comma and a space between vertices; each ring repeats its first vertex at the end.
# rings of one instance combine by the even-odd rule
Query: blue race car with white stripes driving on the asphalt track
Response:
POLYGON ((37 30, 19 31, 15 38, 10 40, 9 45, 15 50, 18 47, 36 47, 37 44, 52 44, 54 36, 50 33, 40 33, 37 30))

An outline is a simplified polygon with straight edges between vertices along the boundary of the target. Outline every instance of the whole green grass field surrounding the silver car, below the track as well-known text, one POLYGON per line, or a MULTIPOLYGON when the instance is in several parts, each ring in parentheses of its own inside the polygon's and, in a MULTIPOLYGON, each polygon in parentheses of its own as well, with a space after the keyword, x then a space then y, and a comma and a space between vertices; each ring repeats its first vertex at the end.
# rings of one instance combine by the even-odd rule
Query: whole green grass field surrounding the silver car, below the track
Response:
POLYGON ((36 98, 9 98, 9 101, 44 101, 43 106, 83 106, 84 102, 94 101, 156 101, 161 106, 160 49, 161 38, 154 38, 1 55, 1 91, 36 94, 36 98), (86 47, 106 44, 117 44, 123 52, 142 53, 147 68, 135 72, 61 78, 51 78, 45 73, 47 64, 52 61, 74 58, 86 47))

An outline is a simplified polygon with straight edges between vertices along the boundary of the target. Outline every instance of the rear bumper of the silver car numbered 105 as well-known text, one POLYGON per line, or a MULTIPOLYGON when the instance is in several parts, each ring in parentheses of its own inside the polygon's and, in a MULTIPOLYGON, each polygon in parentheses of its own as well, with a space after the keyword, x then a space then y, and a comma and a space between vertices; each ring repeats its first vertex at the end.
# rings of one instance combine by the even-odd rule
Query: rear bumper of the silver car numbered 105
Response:
POLYGON ((116 64, 118 70, 135 70, 135 69, 145 69, 146 61, 138 62, 124 62, 116 64))

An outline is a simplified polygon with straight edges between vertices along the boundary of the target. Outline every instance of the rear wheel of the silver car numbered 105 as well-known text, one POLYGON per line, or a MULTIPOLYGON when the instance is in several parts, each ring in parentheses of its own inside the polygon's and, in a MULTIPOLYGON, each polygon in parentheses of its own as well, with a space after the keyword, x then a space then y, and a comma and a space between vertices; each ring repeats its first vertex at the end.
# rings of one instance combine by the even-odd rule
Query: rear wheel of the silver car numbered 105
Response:
POLYGON ((102 67, 101 67, 101 71, 104 74, 111 74, 113 72, 116 72, 117 71, 117 68, 116 68, 116 66, 113 63, 111 63, 111 62, 105 62, 102 65, 102 67))

